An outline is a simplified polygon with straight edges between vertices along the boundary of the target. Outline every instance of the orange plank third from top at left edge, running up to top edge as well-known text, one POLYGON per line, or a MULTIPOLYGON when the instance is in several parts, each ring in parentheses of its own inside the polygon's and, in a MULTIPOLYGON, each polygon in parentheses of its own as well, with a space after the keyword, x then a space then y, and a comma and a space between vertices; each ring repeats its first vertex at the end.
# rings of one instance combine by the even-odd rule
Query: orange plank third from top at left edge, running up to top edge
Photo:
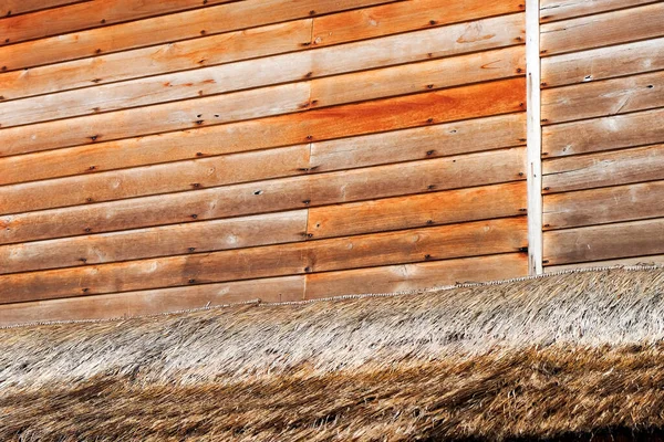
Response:
MULTIPOLYGON (((105 0, 117 3, 116 0, 105 0)), ((131 1, 131 0, 123 0, 131 1)), ((168 0, 191 1, 191 0, 168 0)), ((226 1, 226 0, 220 0, 226 1)), ((0 45, 0 60, 6 71, 13 71, 38 65, 52 64, 69 60, 108 54, 136 48, 146 48, 163 43, 196 39, 201 35, 214 35, 224 32, 246 30, 295 19, 313 18, 318 14, 343 11, 353 8, 386 3, 394 0, 243 0, 228 4, 197 9, 177 14, 155 17, 128 23, 91 29, 75 33, 56 32, 54 36, 30 41, 10 46, 0 45), (314 12, 311 14, 311 12, 314 12)), ((85 3, 84 3, 85 4, 85 3)), ((153 2, 153 8, 160 2, 153 2)), ((197 2, 197 6, 200 6, 197 2)), ((43 13, 53 13, 43 11, 43 13)), ((95 14, 92 14, 94 17, 95 14)), ((137 17, 134 17, 137 18, 137 17)), ((19 19, 18 17, 15 19, 19 19)), ((100 19, 101 21, 102 19, 100 19)), ((61 20, 55 19, 55 22, 61 20)), ((66 24, 66 21, 62 21, 66 24)), ((110 22, 107 21, 106 24, 110 22)), ((29 23, 34 25, 34 21, 29 23)), ((311 25, 311 22, 309 22, 311 25)), ((35 32, 45 32, 44 27, 34 27, 35 32)), ((311 28, 310 28, 311 29, 311 28)), ((2 32, 4 36, 7 32, 2 32)), ((22 31, 22 30, 20 30, 22 31)), ((238 34, 236 34, 237 38, 238 34)), ((230 36, 230 35, 229 35, 230 36)), ((232 38, 231 38, 232 40, 232 38)), ((310 43, 311 34, 299 43, 310 43)), ((4 44, 4 43, 1 43, 4 44)), ((186 44, 185 44, 186 46, 186 44)), ((173 49, 177 50, 179 46, 173 49)), ((163 56, 163 54, 162 54, 163 56)), ((200 54, 197 55, 200 60, 200 54)), ((125 59, 126 60, 126 59, 125 59)), ((103 76, 102 76, 103 78, 103 76)))

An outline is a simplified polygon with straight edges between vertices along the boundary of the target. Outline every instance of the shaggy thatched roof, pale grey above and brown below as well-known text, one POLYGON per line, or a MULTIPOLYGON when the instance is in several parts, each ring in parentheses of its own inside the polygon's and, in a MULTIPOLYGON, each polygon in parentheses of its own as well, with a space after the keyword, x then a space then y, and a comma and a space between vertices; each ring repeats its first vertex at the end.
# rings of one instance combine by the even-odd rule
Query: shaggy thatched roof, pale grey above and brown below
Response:
POLYGON ((0 329, 3 441, 664 429, 664 270, 0 329))

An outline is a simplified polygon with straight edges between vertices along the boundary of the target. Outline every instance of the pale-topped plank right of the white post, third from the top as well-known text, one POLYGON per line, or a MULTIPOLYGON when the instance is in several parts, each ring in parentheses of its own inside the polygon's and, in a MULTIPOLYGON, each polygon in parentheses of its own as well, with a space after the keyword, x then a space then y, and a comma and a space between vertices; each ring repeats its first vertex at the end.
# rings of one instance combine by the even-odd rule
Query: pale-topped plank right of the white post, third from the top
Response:
POLYGON ((664 39, 644 40, 542 59, 543 87, 664 70, 664 39))

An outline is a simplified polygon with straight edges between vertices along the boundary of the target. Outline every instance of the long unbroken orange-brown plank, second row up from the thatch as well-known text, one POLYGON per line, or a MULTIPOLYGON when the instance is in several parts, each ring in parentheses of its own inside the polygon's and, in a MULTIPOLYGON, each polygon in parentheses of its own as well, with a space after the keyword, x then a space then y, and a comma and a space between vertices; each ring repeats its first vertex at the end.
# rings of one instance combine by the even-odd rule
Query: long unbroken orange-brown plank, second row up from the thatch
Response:
POLYGON ((526 217, 0 276, 1 303, 517 252, 526 217))

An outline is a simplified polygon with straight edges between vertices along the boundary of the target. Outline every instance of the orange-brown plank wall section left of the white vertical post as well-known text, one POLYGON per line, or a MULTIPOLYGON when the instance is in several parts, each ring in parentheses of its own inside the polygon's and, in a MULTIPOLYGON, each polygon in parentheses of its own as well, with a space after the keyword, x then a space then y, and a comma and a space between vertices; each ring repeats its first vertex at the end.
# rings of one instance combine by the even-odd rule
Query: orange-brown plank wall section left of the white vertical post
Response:
POLYGON ((6 0, 0 324, 527 274, 523 10, 6 0))

